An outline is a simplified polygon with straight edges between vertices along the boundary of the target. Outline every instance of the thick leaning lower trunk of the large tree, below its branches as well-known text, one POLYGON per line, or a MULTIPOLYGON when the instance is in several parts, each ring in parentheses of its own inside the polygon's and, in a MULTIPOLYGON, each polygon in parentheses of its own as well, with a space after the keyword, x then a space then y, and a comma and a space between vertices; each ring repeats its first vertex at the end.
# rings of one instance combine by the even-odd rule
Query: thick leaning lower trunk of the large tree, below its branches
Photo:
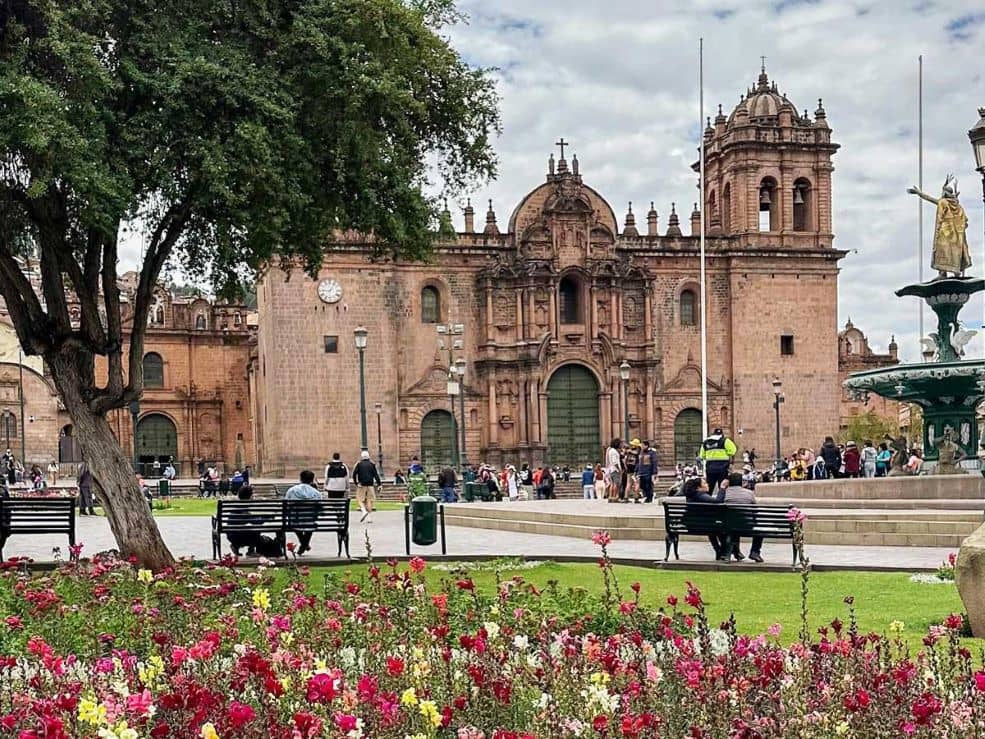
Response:
POLYGON ((141 567, 154 571, 174 564, 174 556, 161 538, 147 499, 137 486, 131 462, 113 435, 106 416, 94 413, 83 399, 78 358, 59 353, 46 359, 72 418, 82 458, 92 472, 120 556, 134 557, 141 567))

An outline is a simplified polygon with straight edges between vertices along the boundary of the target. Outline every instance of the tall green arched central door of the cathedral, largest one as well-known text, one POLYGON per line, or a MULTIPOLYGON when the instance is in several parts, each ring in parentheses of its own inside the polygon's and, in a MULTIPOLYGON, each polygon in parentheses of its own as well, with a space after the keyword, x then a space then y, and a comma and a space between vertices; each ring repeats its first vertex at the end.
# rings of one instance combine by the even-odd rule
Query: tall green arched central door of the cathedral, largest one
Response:
POLYGON ((547 383, 547 455, 577 470, 602 456, 599 384, 587 368, 567 364, 547 383))

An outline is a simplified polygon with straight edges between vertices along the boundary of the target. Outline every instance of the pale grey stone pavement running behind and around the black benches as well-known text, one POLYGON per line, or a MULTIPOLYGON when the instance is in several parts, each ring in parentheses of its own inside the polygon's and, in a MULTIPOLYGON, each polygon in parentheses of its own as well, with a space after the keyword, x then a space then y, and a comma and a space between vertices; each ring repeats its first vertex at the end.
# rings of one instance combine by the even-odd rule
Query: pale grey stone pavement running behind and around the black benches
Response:
MULTIPOLYGON (((633 507, 621 506, 630 509, 633 507)), ((359 515, 355 514, 350 527, 350 551, 353 557, 365 554, 367 535, 375 557, 404 555, 403 512, 374 513, 373 523, 369 524, 359 523, 358 519, 359 515)), ((211 557, 211 525, 207 516, 161 517, 157 522, 175 556, 202 559, 211 557)), ((550 559, 596 557, 599 553, 598 547, 587 538, 494 532, 464 527, 449 527, 447 535, 449 557, 502 555, 550 559)), ((77 536, 78 541, 85 545, 83 556, 115 547, 109 525, 101 516, 80 517, 77 536)), ((38 562, 50 561, 53 558, 52 547, 60 547, 62 558, 67 559, 68 542, 65 537, 58 536, 13 536, 7 542, 4 556, 28 556, 38 562)), ((223 543, 223 551, 229 552, 227 542, 223 543)), ((312 540, 312 551, 302 559, 334 559, 335 551, 334 535, 316 534, 312 540)), ((886 567, 916 571, 936 568, 951 551, 938 547, 817 545, 809 546, 807 554, 814 564, 831 568, 886 567)), ((411 552, 428 557, 439 555, 441 549, 438 544, 432 547, 412 546, 411 552)), ((663 558, 664 545, 662 541, 614 540, 609 553, 613 558, 653 562, 663 558)), ((702 542, 682 541, 680 554, 682 564, 714 564, 711 548, 702 542)), ((786 542, 767 542, 763 548, 763 557, 770 564, 789 566, 792 559, 790 545, 786 542)))

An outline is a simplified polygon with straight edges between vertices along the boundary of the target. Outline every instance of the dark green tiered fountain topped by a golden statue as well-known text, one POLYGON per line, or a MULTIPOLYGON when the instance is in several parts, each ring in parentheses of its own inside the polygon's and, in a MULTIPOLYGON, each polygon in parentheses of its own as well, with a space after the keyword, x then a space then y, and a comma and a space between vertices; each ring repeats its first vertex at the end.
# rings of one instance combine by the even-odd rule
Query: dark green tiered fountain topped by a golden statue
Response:
POLYGON ((964 329, 958 313, 972 295, 985 290, 985 279, 964 276, 971 266, 965 236, 968 218, 958 203, 953 178, 948 176, 940 198, 915 187, 908 192, 937 206, 931 266, 938 277, 896 291, 899 297, 922 298, 937 316, 937 331, 921 338, 932 361, 857 372, 844 384, 856 398, 875 393, 920 406, 924 459, 934 463, 938 474, 961 472, 958 462, 978 453, 975 411, 985 398, 985 360, 963 358, 965 345, 977 332, 964 329))

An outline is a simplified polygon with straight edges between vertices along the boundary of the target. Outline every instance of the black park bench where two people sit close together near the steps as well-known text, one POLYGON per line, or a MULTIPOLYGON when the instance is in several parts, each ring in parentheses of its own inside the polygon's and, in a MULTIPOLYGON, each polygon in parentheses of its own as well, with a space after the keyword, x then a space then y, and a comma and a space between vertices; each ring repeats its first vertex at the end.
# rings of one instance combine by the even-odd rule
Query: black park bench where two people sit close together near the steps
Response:
POLYGON ((683 499, 661 501, 664 507, 664 543, 667 551, 664 562, 680 559, 677 545, 684 534, 693 536, 718 535, 725 540, 725 551, 731 556, 736 537, 761 536, 764 539, 789 539, 793 549, 793 564, 797 566, 797 546, 793 541, 794 525, 789 518, 789 505, 753 505, 726 503, 688 503, 683 499))

